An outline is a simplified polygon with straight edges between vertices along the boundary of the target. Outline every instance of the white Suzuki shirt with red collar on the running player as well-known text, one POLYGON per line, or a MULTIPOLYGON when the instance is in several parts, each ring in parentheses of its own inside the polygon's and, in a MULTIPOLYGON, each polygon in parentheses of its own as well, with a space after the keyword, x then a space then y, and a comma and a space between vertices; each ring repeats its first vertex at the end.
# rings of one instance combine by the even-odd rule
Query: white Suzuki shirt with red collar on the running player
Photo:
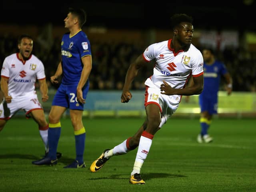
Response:
POLYGON ((184 88, 186 81, 192 76, 200 76, 203 72, 203 56, 192 44, 188 51, 175 52, 171 48, 172 39, 154 43, 143 53, 144 60, 150 62, 156 59, 153 75, 145 85, 160 88, 165 80, 172 88, 184 88))

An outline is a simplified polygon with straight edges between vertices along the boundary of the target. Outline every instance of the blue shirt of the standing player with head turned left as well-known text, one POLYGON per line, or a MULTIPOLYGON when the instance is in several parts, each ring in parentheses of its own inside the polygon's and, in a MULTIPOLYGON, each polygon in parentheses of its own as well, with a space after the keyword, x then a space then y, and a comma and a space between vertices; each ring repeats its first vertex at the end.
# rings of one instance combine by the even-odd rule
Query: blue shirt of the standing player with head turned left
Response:
POLYGON ((61 42, 62 84, 78 84, 84 67, 81 58, 88 55, 91 55, 90 42, 82 30, 73 36, 70 36, 70 33, 63 35, 61 42))

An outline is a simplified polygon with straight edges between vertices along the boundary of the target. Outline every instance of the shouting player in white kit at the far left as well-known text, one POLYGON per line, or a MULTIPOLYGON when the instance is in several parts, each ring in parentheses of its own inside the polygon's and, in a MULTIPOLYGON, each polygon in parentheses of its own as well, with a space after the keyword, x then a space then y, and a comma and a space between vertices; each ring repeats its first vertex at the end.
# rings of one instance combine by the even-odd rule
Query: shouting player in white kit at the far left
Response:
POLYGON ((36 56, 31 54, 33 40, 30 36, 21 35, 18 38, 18 49, 20 52, 11 54, 4 59, 1 70, 0 84, 4 101, 0 104, 0 131, 18 110, 24 110, 26 118, 32 117, 38 124, 47 153, 49 150, 48 123, 35 91, 37 79, 42 94, 42 102, 48 100, 44 65, 36 56))

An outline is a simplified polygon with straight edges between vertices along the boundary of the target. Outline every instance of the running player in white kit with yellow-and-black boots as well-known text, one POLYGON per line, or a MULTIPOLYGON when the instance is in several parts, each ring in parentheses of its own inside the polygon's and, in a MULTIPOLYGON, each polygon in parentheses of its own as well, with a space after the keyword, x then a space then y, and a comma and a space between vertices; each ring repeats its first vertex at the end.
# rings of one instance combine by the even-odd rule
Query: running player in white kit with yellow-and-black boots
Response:
POLYGON ((131 184, 145 184, 140 169, 146 159, 154 134, 166 123, 179 106, 182 95, 200 94, 204 86, 203 57, 191 44, 193 35, 192 18, 186 14, 172 16, 173 38, 155 43, 133 62, 126 74, 121 102, 132 98, 130 86, 138 70, 155 60, 153 75, 146 82, 145 109, 146 120, 134 136, 124 140, 112 149, 106 149, 95 160, 90 170, 97 172, 110 157, 126 154, 138 147, 134 167, 130 176, 131 184), (194 85, 185 87, 192 75, 194 85))

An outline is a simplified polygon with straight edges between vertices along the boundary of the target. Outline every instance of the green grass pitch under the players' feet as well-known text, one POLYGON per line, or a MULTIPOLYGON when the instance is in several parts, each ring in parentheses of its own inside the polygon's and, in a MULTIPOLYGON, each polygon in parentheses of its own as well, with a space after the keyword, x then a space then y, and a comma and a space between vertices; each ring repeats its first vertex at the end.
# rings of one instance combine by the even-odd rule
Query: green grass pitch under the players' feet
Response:
POLYGON ((172 117, 154 136, 141 170, 145 185, 129 183, 136 150, 114 156, 99 172, 90 164, 106 148, 132 136, 142 118, 84 118, 84 169, 64 169, 75 158, 74 132, 62 119, 56 166, 35 166, 44 147, 33 120, 12 118, 0 132, 0 191, 19 192, 255 192, 256 119, 212 121, 210 144, 198 144, 198 119, 172 117))

